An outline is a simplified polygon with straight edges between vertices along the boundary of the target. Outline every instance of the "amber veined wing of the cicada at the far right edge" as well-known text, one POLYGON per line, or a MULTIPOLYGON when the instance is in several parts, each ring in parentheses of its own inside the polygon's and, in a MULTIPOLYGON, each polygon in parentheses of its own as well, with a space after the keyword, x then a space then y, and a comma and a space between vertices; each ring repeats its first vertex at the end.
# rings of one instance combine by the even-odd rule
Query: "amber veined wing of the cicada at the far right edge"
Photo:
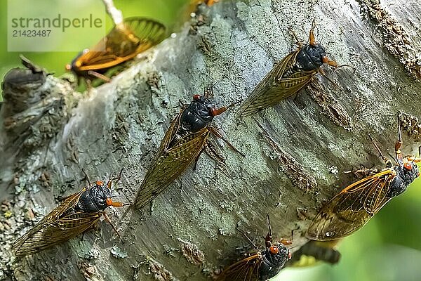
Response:
POLYGON ((395 176, 387 169, 349 185, 319 211, 306 236, 336 240, 362 228, 390 200, 387 192, 395 176))

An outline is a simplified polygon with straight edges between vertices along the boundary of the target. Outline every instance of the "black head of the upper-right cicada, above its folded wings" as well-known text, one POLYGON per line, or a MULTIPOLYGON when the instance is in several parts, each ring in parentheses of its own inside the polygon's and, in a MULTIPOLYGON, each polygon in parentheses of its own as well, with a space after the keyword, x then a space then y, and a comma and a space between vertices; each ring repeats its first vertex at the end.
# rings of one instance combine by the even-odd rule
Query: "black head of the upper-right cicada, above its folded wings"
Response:
POLYGON ((305 71, 316 70, 323 63, 327 63, 327 60, 326 50, 319 43, 303 46, 296 58, 300 68, 305 71))

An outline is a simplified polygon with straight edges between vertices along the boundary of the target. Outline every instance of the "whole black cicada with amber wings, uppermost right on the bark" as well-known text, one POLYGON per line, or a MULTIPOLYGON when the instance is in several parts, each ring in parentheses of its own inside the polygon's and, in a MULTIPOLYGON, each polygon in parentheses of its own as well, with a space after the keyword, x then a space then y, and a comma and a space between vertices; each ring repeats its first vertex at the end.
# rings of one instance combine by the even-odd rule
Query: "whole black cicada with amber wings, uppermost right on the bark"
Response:
POLYGON ((298 49, 276 63, 255 87, 241 105, 240 117, 253 115, 305 88, 318 72, 323 73, 320 68, 323 63, 338 67, 334 60, 328 58, 325 48, 316 43, 314 27, 315 20, 310 30, 309 44, 302 46, 298 41, 298 49))

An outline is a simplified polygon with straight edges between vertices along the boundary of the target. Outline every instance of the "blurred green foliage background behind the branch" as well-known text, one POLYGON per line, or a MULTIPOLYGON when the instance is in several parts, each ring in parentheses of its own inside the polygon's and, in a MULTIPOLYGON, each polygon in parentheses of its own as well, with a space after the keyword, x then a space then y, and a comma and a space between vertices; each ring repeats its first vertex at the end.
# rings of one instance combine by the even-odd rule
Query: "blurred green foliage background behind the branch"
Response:
MULTIPOLYGON (((20 66, 20 59, 19 53, 7 51, 7 1, 0 1, 0 32, 3 34, 3 40, 0 40, 0 78, 3 79, 8 70, 20 66)), ((177 30, 177 26, 188 19, 186 8, 190 2, 191 0, 114 0, 124 18, 154 18, 170 26, 172 30, 177 30)), ((102 1, 98 0, 92 8, 104 9, 102 1)), ((112 21, 107 17, 107 30, 111 28, 112 21)), ((83 38, 77 40, 83 41, 83 38)), ((60 75, 65 72, 65 65, 72 61, 77 52, 23 54, 37 65, 60 75)), ((403 195, 389 202, 366 227, 340 244, 342 259, 338 265, 288 268, 282 270, 274 280, 421 280, 421 224, 418 223, 418 218, 421 217, 420 206, 421 180, 418 179, 403 195)))

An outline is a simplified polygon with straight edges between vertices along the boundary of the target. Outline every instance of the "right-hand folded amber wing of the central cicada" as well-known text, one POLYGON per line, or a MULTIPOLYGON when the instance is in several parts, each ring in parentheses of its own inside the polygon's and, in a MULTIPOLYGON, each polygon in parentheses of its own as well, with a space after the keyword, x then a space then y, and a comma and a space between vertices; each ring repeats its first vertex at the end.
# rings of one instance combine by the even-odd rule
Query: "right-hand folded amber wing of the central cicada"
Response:
POLYGON ((135 209, 145 207, 185 171, 187 166, 198 157, 209 133, 208 128, 189 133, 171 148, 156 155, 136 195, 135 209))

